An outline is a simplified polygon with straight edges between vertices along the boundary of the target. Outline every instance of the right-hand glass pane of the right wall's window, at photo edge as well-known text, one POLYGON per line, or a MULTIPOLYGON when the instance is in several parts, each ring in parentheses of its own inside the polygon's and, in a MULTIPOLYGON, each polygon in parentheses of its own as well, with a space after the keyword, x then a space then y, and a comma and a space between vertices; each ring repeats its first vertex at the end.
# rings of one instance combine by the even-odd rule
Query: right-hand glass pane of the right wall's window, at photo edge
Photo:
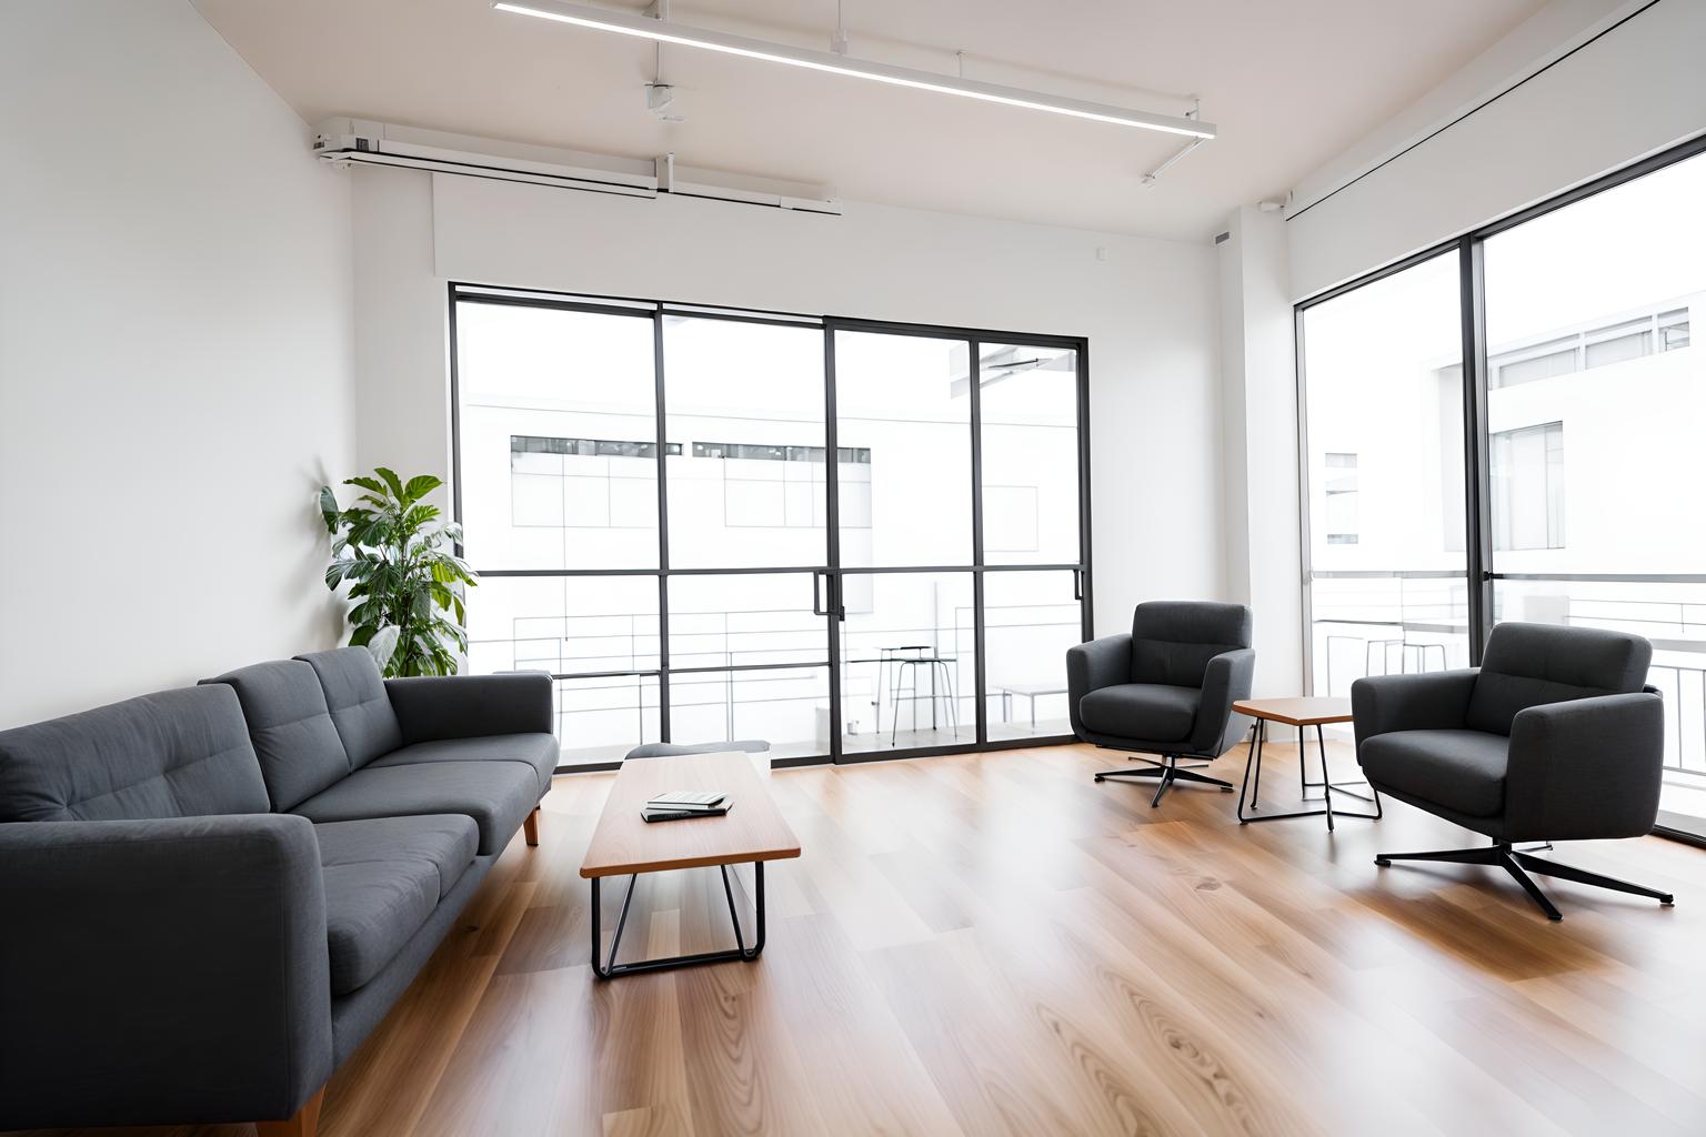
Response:
POLYGON ((1486 239, 1493 619, 1653 641, 1665 810, 1706 818, 1706 155, 1486 239), (1542 341, 1546 373, 1505 358, 1542 341), (1498 377, 1505 373, 1503 380, 1498 377), (1513 385, 1520 382, 1520 385, 1513 385), (1568 496, 1566 496, 1568 477, 1568 496))

